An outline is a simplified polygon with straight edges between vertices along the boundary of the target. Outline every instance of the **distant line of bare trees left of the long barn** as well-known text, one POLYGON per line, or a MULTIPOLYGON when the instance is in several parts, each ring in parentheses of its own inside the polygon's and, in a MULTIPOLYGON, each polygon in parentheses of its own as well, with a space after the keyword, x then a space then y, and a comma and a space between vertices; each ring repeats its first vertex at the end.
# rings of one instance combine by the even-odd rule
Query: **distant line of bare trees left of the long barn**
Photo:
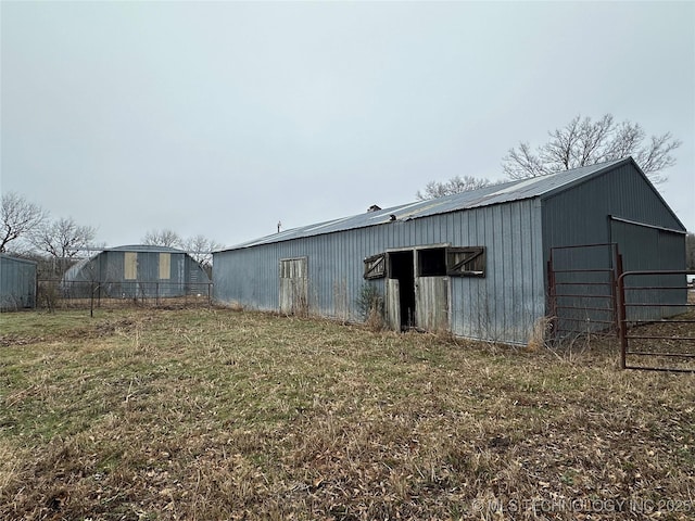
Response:
MULTIPOLYGON (((73 217, 51 218, 50 213, 16 192, 2 194, 0 253, 39 263, 40 277, 61 277, 77 259, 106 247, 96 242, 97 229, 73 217)), ((148 231, 143 244, 187 251, 203 268, 212 266, 212 252, 222 247, 202 234, 181 238, 172 230, 148 231)))

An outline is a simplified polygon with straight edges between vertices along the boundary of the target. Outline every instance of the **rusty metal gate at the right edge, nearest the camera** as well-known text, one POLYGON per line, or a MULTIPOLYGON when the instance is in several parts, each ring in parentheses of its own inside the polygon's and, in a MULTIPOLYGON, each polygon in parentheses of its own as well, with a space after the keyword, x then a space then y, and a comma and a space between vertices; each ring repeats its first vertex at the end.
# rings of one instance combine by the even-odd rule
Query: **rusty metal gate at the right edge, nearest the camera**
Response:
POLYGON ((645 270, 618 277, 622 369, 695 372, 695 289, 686 280, 693 274, 645 270))

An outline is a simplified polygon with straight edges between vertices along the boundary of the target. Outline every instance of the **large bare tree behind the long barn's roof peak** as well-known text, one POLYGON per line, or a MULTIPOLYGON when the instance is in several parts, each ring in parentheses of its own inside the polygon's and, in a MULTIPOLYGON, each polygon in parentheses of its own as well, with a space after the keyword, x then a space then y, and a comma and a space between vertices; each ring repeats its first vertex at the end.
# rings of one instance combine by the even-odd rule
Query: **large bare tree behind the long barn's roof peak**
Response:
POLYGON ((662 170, 673 166, 671 154, 682 143, 670 132, 652 136, 636 123, 616 123, 611 114, 593 122, 576 116, 565 127, 548 132, 549 140, 535 151, 528 142, 509 149, 502 168, 509 179, 527 179, 631 155, 652 182, 667 180, 662 170))

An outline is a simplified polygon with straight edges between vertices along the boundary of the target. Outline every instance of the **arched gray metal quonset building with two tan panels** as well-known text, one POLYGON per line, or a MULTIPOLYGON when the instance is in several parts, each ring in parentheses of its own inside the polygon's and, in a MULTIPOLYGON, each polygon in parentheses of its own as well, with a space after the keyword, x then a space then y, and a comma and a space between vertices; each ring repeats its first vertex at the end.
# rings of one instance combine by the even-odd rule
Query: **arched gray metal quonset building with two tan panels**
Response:
POLYGON ((66 271, 62 287, 70 296, 89 296, 92 283, 105 297, 207 296, 210 278, 182 250, 130 245, 104 250, 77 263, 66 271))

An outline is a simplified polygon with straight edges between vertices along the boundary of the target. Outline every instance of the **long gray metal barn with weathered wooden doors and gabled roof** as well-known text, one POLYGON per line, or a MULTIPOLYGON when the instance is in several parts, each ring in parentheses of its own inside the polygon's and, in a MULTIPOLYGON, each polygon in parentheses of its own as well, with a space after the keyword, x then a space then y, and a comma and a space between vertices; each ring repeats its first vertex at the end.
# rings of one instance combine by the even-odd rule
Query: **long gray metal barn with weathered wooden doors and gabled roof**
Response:
POLYGON ((369 209, 216 252, 215 300, 359 320, 376 293, 393 329, 518 344, 552 314, 574 330, 612 320, 584 277, 617 252, 624 269, 684 269, 685 229, 630 157, 369 209), (551 282, 573 289, 552 300, 551 282))

